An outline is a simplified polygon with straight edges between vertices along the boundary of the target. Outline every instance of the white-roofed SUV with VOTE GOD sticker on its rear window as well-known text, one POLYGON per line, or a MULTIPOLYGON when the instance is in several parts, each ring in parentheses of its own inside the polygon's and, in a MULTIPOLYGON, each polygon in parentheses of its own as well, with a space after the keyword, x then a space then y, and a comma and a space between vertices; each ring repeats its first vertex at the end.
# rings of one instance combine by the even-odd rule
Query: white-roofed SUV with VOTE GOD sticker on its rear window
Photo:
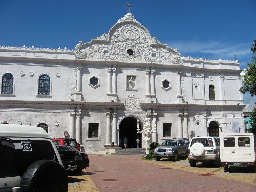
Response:
POLYGON ((0 191, 68 191, 57 148, 41 127, 0 124, 0 191))

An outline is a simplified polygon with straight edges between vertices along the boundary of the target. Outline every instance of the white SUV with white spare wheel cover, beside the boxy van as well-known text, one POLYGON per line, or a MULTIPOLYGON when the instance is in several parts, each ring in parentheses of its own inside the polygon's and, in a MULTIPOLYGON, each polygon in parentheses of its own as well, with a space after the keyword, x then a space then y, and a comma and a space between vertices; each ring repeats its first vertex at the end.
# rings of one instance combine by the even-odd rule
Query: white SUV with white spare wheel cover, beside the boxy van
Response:
POLYGON ((188 158, 191 167, 197 162, 214 162, 220 166, 220 138, 193 137, 188 146, 188 158))

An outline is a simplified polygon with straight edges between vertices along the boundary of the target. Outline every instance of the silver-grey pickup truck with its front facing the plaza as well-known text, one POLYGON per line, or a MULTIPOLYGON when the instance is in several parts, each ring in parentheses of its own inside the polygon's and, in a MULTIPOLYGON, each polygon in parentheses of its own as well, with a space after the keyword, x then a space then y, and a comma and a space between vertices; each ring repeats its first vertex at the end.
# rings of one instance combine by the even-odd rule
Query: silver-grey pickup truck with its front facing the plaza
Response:
POLYGON ((179 156, 188 156, 188 146, 189 140, 187 138, 164 140, 154 150, 156 161, 160 161, 161 157, 169 157, 173 161, 177 161, 179 156))

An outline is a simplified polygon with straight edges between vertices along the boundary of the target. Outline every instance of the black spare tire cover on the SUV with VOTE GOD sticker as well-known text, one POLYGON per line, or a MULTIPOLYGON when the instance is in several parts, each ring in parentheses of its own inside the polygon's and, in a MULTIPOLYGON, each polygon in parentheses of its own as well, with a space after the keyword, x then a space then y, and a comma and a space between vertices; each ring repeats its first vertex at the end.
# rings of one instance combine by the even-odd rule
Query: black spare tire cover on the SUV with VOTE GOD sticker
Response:
POLYGON ((56 161, 40 160, 28 166, 20 180, 20 192, 67 192, 68 176, 56 161))

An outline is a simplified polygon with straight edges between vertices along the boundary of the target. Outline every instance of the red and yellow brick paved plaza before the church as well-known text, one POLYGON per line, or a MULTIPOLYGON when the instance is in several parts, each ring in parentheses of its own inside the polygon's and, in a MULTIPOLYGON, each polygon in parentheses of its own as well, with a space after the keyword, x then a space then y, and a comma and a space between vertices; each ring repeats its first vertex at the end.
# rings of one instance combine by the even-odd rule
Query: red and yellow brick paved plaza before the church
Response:
POLYGON ((224 172, 214 164, 192 168, 185 159, 157 162, 142 156, 90 155, 89 168, 68 174, 69 192, 256 191, 256 174, 244 169, 224 172))

